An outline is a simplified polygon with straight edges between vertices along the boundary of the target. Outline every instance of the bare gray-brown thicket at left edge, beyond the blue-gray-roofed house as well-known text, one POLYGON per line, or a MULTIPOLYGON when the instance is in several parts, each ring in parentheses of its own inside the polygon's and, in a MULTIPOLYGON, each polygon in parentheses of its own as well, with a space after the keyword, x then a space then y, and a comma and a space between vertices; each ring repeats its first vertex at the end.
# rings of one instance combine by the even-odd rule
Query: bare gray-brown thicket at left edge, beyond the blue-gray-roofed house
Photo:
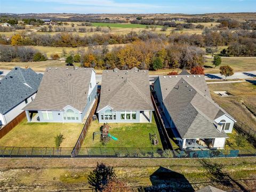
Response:
POLYGON ((46 55, 30 47, 0 45, 0 61, 28 62, 45 60, 47 60, 46 55))

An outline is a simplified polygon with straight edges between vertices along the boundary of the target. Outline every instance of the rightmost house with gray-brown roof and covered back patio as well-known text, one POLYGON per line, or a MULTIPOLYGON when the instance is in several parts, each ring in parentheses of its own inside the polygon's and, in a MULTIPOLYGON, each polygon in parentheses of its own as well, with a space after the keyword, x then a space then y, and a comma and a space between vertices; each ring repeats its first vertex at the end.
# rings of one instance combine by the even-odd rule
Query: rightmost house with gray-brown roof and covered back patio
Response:
POLYGON ((154 90, 181 149, 224 148, 236 121, 212 100, 204 75, 159 76, 154 90))

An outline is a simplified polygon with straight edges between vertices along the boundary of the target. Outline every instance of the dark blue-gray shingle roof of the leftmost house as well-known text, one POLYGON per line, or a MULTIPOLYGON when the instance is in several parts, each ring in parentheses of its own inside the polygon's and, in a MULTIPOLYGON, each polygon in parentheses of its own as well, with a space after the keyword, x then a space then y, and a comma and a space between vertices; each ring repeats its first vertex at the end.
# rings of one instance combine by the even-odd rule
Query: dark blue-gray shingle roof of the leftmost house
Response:
POLYGON ((14 67, 0 80, 0 113, 7 113, 30 95, 36 93, 42 76, 30 68, 14 67))

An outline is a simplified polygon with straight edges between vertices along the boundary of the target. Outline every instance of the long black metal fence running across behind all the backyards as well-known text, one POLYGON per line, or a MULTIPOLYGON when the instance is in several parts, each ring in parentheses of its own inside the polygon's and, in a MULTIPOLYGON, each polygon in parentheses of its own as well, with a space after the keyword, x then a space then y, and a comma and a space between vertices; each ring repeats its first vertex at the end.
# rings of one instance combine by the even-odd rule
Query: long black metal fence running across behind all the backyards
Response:
MULTIPOLYGON (((73 148, 0 147, 0 157, 70 157, 73 148)), ((214 150, 171 150, 157 148, 82 147, 72 157, 99 158, 211 158, 256 157, 256 150, 226 148, 214 150)))

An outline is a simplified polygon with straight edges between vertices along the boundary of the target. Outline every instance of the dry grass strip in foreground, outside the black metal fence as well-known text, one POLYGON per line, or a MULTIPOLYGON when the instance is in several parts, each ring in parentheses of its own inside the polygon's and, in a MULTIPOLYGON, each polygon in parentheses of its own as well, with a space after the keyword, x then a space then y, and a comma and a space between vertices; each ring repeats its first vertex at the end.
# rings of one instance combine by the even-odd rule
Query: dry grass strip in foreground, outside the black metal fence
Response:
POLYGON ((97 163, 113 166, 117 177, 132 187, 167 184, 174 191, 195 191, 207 185, 227 191, 255 188, 256 158, 2 158, 0 190, 89 189, 87 177, 97 163))

